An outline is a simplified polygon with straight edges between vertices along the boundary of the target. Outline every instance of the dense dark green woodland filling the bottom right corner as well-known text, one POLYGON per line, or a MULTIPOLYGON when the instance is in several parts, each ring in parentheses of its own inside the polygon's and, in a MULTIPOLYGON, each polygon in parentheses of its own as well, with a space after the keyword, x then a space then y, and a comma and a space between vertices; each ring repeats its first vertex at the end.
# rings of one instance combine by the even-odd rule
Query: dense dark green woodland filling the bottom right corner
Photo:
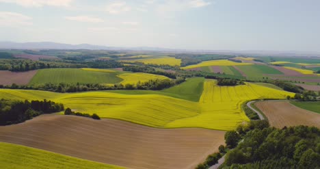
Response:
POLYGON ((197 169, 217 164, 226 153, 220 168, 320 168, 320 129, 296 126, 276 129, 267 120, 251 121, 224 135, 226 147, 209 155, 197 169))

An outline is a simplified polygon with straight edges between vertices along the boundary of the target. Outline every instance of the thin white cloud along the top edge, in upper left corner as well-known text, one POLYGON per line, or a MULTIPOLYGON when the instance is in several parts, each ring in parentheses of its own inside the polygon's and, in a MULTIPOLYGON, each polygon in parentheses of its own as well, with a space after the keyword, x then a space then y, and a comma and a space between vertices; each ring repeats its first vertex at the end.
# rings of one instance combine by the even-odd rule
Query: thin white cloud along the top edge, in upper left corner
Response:
POLYGON ((42 7, 49 6, 64 6, 67 7, 73 0, 0 0, 2 3, 15 3, 25 7, 42 7))

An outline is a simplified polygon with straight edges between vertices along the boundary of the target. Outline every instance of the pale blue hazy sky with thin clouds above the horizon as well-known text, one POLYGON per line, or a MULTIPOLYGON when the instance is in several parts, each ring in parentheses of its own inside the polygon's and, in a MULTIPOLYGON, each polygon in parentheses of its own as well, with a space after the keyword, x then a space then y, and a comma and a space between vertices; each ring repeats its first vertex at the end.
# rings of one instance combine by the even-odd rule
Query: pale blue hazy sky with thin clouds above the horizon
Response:
POLYGON ((0 41, 320 51, 319 0, 0 0, 0 41))

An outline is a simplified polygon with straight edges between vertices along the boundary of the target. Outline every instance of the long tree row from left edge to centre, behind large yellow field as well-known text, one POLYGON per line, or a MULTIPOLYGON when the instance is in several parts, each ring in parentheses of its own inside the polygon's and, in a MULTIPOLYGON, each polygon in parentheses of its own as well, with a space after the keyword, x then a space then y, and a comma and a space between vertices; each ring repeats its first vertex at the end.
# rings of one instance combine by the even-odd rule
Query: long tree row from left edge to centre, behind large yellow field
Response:
POLYGON ((0 88, 10 88, 10 89, 23 89, 23 90, 46 90, 51 92, 86 92, 86 91, 95 91, 95 90, 162 90, 165 88, 170 88, 172 86, 175 86, 179 83, 182 83, 185 81, 185 78, 179 77, 176 80, 171 79, 154 79, 149 80, 146 82, 140 82, 136 84, 126 84, 122 85, 115 84, 113 86, 105 86, 98 83, 45 83, 45 84, 39 84, 39 85, 16 85, 15 83, 11 86, 3 86, 0 85, 0 88))

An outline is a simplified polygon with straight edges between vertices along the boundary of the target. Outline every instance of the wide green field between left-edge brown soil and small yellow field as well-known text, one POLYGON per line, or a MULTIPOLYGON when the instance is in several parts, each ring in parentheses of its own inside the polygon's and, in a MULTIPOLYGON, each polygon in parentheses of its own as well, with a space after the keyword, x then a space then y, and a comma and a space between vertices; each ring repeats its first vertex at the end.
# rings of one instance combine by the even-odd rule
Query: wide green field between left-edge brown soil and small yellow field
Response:
POLYGON ((119 73, 88 71, 80 68, 47 68, 38 70, 31 85, 43 83, 119 83, 119 73))

